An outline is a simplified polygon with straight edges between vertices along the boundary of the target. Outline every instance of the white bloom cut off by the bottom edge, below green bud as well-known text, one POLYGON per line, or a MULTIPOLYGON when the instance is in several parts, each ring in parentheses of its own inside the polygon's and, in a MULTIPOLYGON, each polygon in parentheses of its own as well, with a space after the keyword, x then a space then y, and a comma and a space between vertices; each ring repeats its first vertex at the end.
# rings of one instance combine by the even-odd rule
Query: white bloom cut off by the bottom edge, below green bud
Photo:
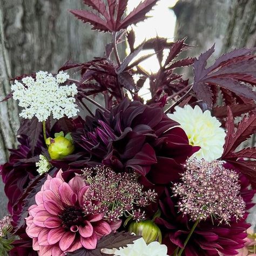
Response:
POLYGON ((168 256, 166 245, 161 245, 159 242, 151 242, 147 245, 143 238, 137 239, 127 247, 104 249, 102 252, 114 256, 168 256))

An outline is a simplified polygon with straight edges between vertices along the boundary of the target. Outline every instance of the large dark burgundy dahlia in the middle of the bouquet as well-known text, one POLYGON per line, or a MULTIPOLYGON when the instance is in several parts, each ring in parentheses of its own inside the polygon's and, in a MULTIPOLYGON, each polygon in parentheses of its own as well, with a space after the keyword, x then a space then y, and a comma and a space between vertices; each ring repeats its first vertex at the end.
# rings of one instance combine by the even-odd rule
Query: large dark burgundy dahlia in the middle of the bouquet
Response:
POLYGON ((95 117, 86 117, 73 137, 91 154, 90 161, 117 171, 132 168, 154 184, 167 184, 179 178, 181 164, 198 150, 177 125, 160 104, 125 98, 110 112, 97 110, 95 117))

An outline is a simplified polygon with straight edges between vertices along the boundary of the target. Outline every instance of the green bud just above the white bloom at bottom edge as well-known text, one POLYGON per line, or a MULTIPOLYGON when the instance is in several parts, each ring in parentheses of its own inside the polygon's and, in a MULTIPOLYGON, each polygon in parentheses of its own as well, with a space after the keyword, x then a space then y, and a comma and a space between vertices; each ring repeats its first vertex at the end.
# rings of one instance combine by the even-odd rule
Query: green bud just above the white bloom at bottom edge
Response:
POLYGON ((150 244, 153 241, 158 241, 161 244, 162 234, 160 228, 151 220, 142 220, 139 222, 133 221, 129 228, 129 232, 136 235, 142 235, 146 244, 150 244))

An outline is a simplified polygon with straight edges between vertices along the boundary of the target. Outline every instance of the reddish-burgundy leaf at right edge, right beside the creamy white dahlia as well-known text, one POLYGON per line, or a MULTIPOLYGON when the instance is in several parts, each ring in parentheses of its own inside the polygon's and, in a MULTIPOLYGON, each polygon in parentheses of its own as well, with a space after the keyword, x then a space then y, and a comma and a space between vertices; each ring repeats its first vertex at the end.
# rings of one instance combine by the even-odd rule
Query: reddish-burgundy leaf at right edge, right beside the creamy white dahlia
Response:
POLYGON ((234 118, 230 107, 227 108, 227 135, 222 160, 237 167, 256 188, 256 151, 255 147, 237 151, 238 146, 256 132, 256 113, 245 116, 235 129, 234 118))

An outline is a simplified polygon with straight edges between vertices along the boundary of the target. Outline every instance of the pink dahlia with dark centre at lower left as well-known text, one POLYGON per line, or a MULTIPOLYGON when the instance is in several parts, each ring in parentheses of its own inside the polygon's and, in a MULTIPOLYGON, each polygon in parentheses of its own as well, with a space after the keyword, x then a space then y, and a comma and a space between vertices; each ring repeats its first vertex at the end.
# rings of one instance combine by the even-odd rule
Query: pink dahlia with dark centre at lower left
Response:
POLYGON ((80 247, 95 249, 98 239, 119 227, 119 223, 107 223, 104 213, 84 213, 88 188, 78 176, 66 183, 61 170, 56 178, 48 176, 26 218, 26 233, 39 255, 62 256, 80 247))

